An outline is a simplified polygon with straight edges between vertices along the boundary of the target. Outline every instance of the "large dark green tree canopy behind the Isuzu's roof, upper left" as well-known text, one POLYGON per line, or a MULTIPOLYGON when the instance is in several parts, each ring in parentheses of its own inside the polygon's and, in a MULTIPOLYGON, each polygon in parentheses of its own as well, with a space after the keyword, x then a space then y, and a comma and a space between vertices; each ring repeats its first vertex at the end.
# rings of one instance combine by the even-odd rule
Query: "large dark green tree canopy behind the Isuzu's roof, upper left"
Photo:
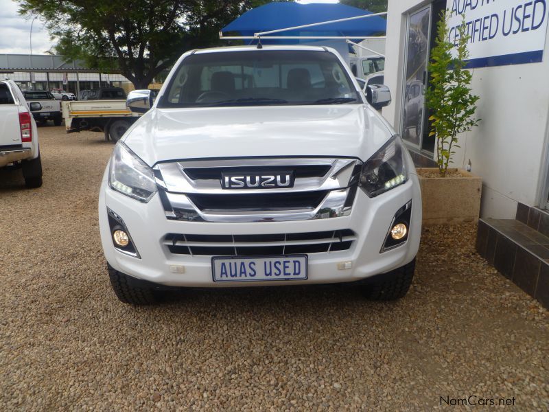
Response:
POLYGON ((16 0, 56 39, 57 54, 120 71, 143 89, 183 52, 220 43, 224 25, 269 0, 16 0))

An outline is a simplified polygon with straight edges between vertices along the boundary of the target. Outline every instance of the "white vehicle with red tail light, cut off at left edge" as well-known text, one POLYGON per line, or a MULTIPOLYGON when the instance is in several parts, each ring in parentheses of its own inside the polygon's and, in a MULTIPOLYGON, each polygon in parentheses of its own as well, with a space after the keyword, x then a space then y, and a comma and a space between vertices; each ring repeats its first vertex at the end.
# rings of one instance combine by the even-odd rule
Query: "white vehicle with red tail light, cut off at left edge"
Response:
POLYGON ((42 185, 38 130, 31 113, 41 108, 38 102, 27 104, 12 80, 0 80, 0 168, 21 168, 27 187, 42 185))

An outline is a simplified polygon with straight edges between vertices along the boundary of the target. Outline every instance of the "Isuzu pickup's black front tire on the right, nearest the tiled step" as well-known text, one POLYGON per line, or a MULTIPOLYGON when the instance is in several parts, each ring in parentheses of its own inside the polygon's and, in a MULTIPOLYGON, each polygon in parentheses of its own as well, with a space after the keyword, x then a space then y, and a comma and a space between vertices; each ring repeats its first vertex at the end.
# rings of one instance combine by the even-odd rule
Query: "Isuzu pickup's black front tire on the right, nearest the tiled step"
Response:
POLYGON ((386 273, 382 279, 364 286, 364 296, 377 301, 396 300, 406 296, 414 278, 415 266, 416 260, 414 259, 412 262, 386 273))

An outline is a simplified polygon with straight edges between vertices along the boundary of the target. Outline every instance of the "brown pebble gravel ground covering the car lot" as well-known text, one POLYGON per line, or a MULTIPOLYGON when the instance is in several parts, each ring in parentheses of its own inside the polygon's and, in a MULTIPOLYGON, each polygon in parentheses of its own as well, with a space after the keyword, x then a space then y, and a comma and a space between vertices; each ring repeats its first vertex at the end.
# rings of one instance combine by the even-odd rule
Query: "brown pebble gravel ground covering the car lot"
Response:
POLYGON ((110 290, 97 228, 113 145, 39 132, 43 187, 0 171, 0 409, 405 411, 471 395, 549 408, 548 312, 474 252, 475 225, 425 230, 394 303, 320 286, 133 308, 110 290))

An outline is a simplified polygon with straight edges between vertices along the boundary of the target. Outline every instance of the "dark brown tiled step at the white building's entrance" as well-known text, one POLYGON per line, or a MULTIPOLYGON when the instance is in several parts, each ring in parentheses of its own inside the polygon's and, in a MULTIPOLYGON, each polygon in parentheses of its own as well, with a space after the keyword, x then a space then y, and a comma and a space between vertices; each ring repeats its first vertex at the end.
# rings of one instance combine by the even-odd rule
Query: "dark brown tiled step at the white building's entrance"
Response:
POLYGON ((539 231, 541 220, 545 225, 544 216, 549 219, 549 215, 531 209, 535 208, 528 210, 526 222, 524 214, 521 220, 480 219, 476 249, 502 275, 549 308, 549 236, 539 231))

